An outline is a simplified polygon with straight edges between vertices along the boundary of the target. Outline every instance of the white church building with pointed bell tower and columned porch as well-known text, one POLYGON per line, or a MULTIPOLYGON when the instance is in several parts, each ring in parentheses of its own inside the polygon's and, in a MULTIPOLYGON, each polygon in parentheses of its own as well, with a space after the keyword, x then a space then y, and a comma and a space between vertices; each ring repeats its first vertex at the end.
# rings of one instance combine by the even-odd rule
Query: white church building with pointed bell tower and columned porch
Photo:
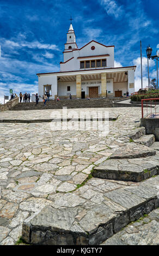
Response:
POLYGON ((39 95, 50 92, 50 99, 119 97, 134 92, 136 66, 114 68, 114 45, 90 41, 82 48, 76 44, 72 24, 60 62, 59 72, 37 74, 39 95))

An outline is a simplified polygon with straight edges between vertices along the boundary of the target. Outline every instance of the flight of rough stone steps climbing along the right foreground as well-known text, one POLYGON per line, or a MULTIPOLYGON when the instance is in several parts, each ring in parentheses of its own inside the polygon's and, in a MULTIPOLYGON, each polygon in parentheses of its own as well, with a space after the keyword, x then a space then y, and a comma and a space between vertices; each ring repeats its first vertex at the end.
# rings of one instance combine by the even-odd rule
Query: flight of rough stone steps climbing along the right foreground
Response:
POLYGON ((56 194, 52 205, 23 222, 22 239, 32 245, 100 245, 157 209, 158 143, 152 145, 153 136, 146 139, 144 127, 130 137, 140 141, 115 150, 94 168, 87 185, 63 199, 56 194))

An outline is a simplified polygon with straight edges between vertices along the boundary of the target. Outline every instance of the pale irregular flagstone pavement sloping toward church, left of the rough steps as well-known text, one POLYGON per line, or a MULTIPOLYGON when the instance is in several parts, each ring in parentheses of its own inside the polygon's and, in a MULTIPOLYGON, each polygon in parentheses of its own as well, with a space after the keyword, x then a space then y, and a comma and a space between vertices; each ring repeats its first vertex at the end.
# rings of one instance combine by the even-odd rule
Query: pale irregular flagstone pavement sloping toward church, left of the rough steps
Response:
MULTIPOLYGON (((107 136, 99 131, 51 131, 50 123, 0 124, 0 244, 13 245, 21 236, 26 218, 52 205, 54 197, 58 196, 60 202, 66 192, 78 194, 79 185, 91 178, 93 167, 120 147, 131 145, 129 135, 140 125, 140 108, 107 108, 106 111, 119 114, 116 121, 109 121, 107 136)), ((17 115, 29 119, 50 118, 51 110, 25 113, 1 112, 0 118, 8 114, 13 118, 17 115)), ((116 188, 113 181, 105 182, 111 190, 116 188)), ((87 183, 82 188, 86 187, 87 183)), ((98 202, 100 197, 90 204, 98 202)))

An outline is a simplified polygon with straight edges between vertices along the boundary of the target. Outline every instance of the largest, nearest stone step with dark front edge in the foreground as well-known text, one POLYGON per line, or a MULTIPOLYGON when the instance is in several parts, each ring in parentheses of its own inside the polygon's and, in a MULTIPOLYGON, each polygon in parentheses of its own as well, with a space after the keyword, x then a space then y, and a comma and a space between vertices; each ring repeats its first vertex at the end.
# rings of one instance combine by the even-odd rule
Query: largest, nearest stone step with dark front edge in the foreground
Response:
MULTIPOLYGON (((32 245, 100 245, 159 206, 158 182, 156 176, 122 187, 92 178, 76 192, 49 196, 50 205, 23 223, 22 239, 32 245)), ((31 202, 22 202, 20 209, 31 202)))

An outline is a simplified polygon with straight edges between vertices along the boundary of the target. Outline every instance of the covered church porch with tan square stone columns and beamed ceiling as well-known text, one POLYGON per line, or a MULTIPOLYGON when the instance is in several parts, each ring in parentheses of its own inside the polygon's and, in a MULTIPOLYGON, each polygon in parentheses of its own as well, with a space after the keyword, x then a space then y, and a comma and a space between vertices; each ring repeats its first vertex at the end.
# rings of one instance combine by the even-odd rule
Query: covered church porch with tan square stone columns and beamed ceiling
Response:
POLYGON ((96 72, 94 74, 60 75, 57 95, 62 99, 86 99, 126 96, 129 91, 128 72, 96 72))

